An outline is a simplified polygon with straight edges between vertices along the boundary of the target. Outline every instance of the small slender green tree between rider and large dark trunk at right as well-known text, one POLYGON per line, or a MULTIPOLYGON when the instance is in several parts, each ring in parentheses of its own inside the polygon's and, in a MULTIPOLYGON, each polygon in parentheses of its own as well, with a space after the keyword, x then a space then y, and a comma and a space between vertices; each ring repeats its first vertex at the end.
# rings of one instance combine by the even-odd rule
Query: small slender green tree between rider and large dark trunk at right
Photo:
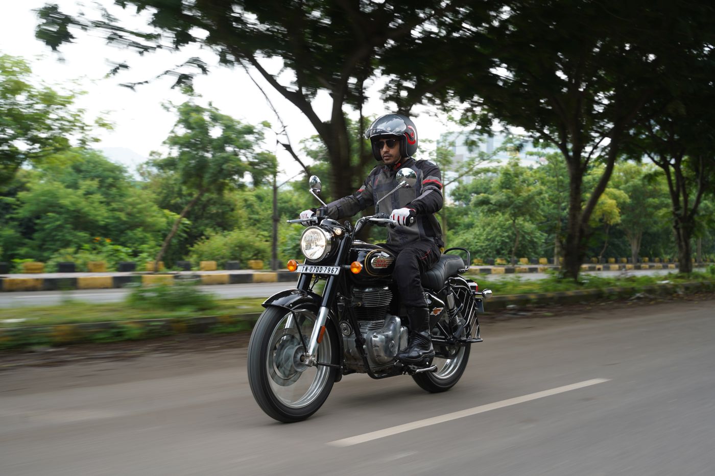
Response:
POLYGON ((543 190, 533 178, 532 171, 519 165, 519 159, 510 159, 495 182, 491 194, 474 197, 473 204, 484 212, 501 213, 511 224, 513 247, 511 264, 516 264, 516 250, 523 234, 525 222, 536 222, 542 218, 541 197, 543 190))

